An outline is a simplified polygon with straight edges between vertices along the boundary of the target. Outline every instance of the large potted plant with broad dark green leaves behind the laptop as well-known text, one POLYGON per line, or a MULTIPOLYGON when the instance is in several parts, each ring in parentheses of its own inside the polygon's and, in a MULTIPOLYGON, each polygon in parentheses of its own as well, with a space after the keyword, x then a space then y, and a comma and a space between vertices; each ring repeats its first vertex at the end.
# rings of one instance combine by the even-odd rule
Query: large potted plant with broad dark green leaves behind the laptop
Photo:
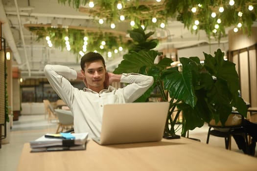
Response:
POLYGON ((129 31, 133 44, 114 73, 134 72, 154 77, 154 84, 137 102, 144 102, 158 87, 162 101, 170 103, 164 130, 164 138, 177 138, 175 124, 180 113, 183 115, 182 136, 187 130, 202 127, 205 122, 215 119, 225 124, 232 107, 246 116, 247 106, 239 96, 239 79, 235 64, 224 61, 224 53, 218 49, 214 57, 205 55, 204 64, 198 57, 180 58, 181 69, 171 67, 172 60, 163 58, 154 64, 161 52, 152 50, 158 41, 148 38, 154 34, 145 34, 139 28, 129 31), (175 116, 172 117, 172 114, 175 116))

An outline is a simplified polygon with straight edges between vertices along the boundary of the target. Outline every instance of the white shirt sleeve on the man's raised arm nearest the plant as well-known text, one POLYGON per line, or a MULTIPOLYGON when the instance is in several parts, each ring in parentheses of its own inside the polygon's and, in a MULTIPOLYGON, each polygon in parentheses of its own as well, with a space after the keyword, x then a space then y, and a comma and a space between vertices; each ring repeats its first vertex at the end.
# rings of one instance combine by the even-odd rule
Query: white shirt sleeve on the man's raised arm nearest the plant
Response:
POLYGON ((123 96, 126 103, 131 103, 153 85, 154 79, 152 76, 147 75, 123 73, 120 82, 129 84, 123 88, 123 96))

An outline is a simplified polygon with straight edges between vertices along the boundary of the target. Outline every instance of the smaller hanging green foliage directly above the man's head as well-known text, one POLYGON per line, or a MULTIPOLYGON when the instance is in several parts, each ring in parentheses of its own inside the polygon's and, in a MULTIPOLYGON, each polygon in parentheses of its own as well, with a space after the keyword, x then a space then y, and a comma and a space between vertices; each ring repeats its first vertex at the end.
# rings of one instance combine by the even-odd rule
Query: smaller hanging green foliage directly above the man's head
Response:
POLYGON ((66 48, 65 37, 69 37, 70 51, 77 55, 79 60, 79 51, 82 51, 84 37, 88 37, 87 51, 96 50, 99 53, 106 51, 114 51, 122 46, 124 49, 128 46, 130 41, 124 42, 122 36, 114 36, 112 33, 103 32, 86 32, 78 29, 66 28, 51 28, 51 27, 29 27, 32 33, 35 33, 38 38, 37 41, 50 37, 51 42, 55 47, 66 48), (105 41, 104 49, 100 48, 101 42, 105 41))

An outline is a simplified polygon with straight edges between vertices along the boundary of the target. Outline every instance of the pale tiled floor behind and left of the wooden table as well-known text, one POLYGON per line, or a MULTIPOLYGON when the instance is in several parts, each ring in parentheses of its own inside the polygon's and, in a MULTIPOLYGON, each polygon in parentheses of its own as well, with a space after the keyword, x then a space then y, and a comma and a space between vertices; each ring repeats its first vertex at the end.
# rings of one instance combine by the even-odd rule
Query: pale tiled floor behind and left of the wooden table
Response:
MULTIPOLYGON (((0 171, 16 171, 23 144, 35 140, 45 133, 54 133, 56 128, 56 121, 48 123, 44 115, 20 116, 19 121, 14 121, 9 134, 10 143, 2 145, 0 149, 0 171)), ((206 143, 207 132, 208 125, 204 125, 202 128, 195 128, 190 131, 189 137, 200 139, 201 143, 206 143)), ((225 148, 223 138, 211 136, 209 144, 218 148, 225 148)), ((234 139, 232 140, 232 150, 242 152, 237 149, 234 139)), ((257 152, 255 157, 257 157, 257 152)))

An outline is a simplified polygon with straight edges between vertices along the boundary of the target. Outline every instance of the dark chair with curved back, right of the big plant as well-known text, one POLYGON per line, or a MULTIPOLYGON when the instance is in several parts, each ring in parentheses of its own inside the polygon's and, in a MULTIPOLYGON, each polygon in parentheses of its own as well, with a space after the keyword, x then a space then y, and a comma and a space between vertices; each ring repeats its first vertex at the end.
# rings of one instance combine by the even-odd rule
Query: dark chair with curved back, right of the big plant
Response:
POLYGON ((243 120, 244 117, 238 112, 232 112, 224 126, 222 126, 220 122, 215 124, 215 121, 211 120, 206 143, 209 144, 210 135, 223 137, 225 139, 225 148, 231 150, 231 136, 241 135, 246 142, 246 151, 249 152, 248 135, 245 128, 242 127, 243 120))

